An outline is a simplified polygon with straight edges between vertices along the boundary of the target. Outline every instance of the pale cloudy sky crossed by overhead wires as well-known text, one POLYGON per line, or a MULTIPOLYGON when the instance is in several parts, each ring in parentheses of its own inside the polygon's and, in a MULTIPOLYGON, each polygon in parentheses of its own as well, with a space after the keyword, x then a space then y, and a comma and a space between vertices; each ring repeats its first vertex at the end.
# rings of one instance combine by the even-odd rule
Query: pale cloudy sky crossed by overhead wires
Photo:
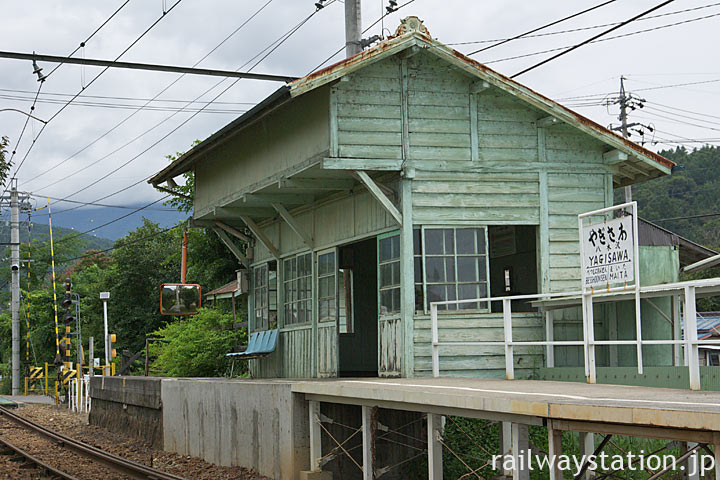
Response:
MULTIPOLYGON (((225 70, 254 66, 258 73, 302 76, 344 44, 344 6, 340 0, 325 3, 325 8, 257 65, 262 57, 253 57, 313 13, 315 0, 2 0, 0 50, 67 56, 119 9, 75 56, 115 59, 157 22, 120 60, 192 66, 227 39, 198 66, 225 70)), ((488 41, 513 37, 601 3, 603 0, 413 0, 365 36, 388 35, 401 18, 416 15, 434 38, 468 54, 493 44, 488 41)), ((556 52, 528 54, 582 42, 610 28, 608 24, 632 18, 659 3, 616 0, 537 32, 550 35, 508 42, 473 58, 513 75, 556 52), (605 27, 588 28, 598 25, 605 27), (509 57, 520 58, 503 60, 509 57)), ((379 19, 387 4, 387 0, 363 0, 363 28, 379 19)), ((631 112, 630 121, 653 128, 653 132, 645 129, 648 148, 659 151, 681 144, 701 145, 695 140, 720 142, 720 66, 713 47, 718 41, 720 3, 676 0, 649 16, 655 18, 635 21, 607 36, 621 38, 585 45, 516 80, 602 125, 617 125, 617 106, 604 103, 617 95, 620 77, 625 76, 626 89, 645 100, 644 108, 631 112)), ((339 54, 334 61, 341 58, 339 54)), ((43 74, 55 66, 40 62, 43 74)), ((52 120, 41 134, 42 124, 29 121, 16 146, 26 117, 2 110, 29 111, 39 83, 30 61, 0 59, 0 136, 8 137, 10 152, 16 151, 13 171, 22 162, 16 173, 20 190, 37 198, 108 205, 158 200, 163 194, 144 179, 167 165, 167 155, 207 138, 281 85, 243 79, 230 86, 233 79, 102 70, 62 65, 49 75, 33 114, 52 120), (57 113, 78 93, 81 95, 57 113), (158 94, 150 108, 137 110, 158 94), (210 100, 215 102, 208 105, 210 100), (180 111, 183 107, 186 111, 180 111), (197 113, 203 107, 205 110, 197 113)), ((637 135, 633 138, 642 140, 637 135)), ((59 212, 76 205, 57 202, 53 208, 59 212)), ((92 207, 81 208, 88 214, 93 211, 92 207)))

